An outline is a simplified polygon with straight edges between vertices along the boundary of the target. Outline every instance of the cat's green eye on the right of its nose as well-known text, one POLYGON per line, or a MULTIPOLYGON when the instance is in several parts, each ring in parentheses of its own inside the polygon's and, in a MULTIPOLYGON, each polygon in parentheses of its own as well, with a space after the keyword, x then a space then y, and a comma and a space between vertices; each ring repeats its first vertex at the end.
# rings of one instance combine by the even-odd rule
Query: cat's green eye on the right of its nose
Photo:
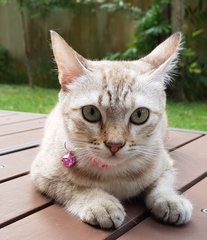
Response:
POLYGON ((134 124, 143 124, 149 118, 149 109, 147 108, 137 108, 131 115, 130 121, 134 124))

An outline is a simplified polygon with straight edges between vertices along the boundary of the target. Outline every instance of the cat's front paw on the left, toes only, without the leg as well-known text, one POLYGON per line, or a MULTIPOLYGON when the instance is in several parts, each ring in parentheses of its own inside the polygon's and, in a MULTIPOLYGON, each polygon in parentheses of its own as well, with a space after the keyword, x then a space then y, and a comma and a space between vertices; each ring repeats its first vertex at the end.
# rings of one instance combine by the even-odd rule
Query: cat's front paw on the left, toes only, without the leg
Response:
POLYGON ((124 221, 125 211, 115 198, 94 199, 80 213, 82 221, 101 228, 118 228, 124 221))

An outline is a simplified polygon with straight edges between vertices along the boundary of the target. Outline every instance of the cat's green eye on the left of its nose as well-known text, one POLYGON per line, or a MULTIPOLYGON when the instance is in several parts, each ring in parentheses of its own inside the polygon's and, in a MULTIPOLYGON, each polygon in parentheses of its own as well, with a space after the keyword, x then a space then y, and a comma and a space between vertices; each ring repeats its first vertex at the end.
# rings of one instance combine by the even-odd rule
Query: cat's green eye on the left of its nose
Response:
POLYGON ((101 113, 97 107, 93 105, 87 105, 82 107, 82 115, 88 122, 98 122, 101 119, 101 113))

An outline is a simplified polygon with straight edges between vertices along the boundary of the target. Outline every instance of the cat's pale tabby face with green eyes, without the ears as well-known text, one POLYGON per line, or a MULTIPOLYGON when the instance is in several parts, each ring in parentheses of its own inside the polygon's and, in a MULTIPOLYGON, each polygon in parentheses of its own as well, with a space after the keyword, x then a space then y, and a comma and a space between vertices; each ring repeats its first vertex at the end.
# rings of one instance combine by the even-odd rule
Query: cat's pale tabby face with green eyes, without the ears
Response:
POLYGON ((161 85, 147 83, 127 63, 102 64, 91 64, 91 73, 71 83, 63 99, 74 148, 111 164, 153 153, 165 113, 161 85))

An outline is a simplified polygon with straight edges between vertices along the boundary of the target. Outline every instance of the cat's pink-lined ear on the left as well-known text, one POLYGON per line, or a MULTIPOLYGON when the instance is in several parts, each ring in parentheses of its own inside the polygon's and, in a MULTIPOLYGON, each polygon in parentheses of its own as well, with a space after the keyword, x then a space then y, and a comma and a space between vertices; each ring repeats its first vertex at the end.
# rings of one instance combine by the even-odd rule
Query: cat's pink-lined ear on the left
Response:
POLYGON ((50 31, 52 50, 58 67, 58 78, 63 88, 86 70, 82 56, 78 55, 55 31, 50 31))

